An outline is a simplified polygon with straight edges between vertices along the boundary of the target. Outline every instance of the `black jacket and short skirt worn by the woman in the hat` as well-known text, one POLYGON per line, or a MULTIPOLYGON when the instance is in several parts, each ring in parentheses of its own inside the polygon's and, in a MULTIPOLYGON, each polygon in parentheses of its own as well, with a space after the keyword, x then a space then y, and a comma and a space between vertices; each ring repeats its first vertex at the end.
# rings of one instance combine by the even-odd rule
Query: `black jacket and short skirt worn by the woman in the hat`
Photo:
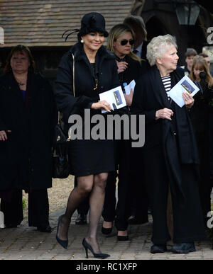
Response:
MULTIPOLYGON (((114 55, 101 47, 96 56, 95 67, 89 63, 82 44, 77 43, 62 57, 55 82, 55 98, 63 113, 66 127, 71 114, 82 117, 84 110, 90 110, 90 119, 101 115, 101 110, 92 110, 91 105, 99 101, 99 93, 119 86, 119 76, 114 55), (75 97, 72 90, 72 62, 75 59, 75 97), (97 86, 96 86, 97 84, 97 86)), ((88 114, 89 115, 89 114, 88 114)), ((105 122, 107 115, 103 114, 105 122)), ((91 125, 91 130, 95 125, 91 125)), ((84 137, 84 129, 83 129, 84 137)), ((75 176, 88 176, 115 169, 114 141, 107 139, 75 139, 70 141, 70 167, 75 176)))

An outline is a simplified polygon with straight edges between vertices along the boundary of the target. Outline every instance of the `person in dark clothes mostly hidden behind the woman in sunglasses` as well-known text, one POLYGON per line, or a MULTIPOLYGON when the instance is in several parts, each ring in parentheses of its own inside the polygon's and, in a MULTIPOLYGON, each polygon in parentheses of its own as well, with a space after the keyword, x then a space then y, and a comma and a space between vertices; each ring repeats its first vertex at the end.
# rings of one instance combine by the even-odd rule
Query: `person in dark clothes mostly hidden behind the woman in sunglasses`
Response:
MULTIPOLYGON (((146 25, 141 16, 126 16, 124 18, 124 24, 129 27, 135 33, 133 53, 138 57, 147 61, 147 67, 149 67, 148 60, 146 58, 147 40, 146 25)), ((143 176, 141 176, 141 154, 142 148, 131 149, 131 181, 133 182, 133 188, 131 188, 131 217, 129 218, 129 224, 143 224, 148 222, 148 214, 151 214, 151 208, 148 206, 148 194, 143 183, 143 176)))

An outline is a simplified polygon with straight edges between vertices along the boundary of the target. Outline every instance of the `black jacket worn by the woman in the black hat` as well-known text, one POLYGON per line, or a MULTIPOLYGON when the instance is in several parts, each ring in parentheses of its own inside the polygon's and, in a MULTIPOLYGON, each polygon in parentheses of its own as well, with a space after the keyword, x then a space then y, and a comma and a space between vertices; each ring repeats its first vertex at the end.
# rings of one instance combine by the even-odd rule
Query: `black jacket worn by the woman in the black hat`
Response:
POLYGON ((71 114, 82 114, 84 109, 91 108, 92 103, 99 101, 99 93, 119 85, 114 54, 102 46, 97 52, 96 67, 93 72, 83 45, 78 42, 62 57, 55 81, 55 100, 63 114, 63 120, 67 122, 71 114), (75 58, 75 97, 72 85, 72 54, 75 58), (94 90, 95 79, 98 80, 96 90, 94 90))

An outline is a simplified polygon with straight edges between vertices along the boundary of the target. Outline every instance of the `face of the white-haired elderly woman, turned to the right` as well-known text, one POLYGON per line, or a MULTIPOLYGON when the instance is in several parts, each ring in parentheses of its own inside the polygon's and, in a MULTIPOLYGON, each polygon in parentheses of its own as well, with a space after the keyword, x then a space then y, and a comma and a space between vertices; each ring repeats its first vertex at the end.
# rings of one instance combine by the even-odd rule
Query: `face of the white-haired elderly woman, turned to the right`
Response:
POLYGON ((167 75, 161 75, 161 76, 168 76, 170 72, 173 72, 175 69, 177 69, 178 65, 178 55, 177 50, 174 45, 168 45, 167 50, 165 54, 156 59, 156 64, 158 66, 158 69, 160 70, 160 74, 167 74, 167 75))

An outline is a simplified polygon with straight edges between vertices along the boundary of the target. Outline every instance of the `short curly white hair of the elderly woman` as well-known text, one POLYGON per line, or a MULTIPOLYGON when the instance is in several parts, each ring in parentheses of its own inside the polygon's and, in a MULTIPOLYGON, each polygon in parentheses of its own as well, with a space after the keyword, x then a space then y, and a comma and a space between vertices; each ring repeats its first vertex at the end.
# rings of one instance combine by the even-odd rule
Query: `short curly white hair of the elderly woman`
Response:
POLYGON ((147 46, 146 58, 149 64, 153 66, 156 63, 156 58, 163 57, 171 45, 174 45, 178 49, 176 39, 170 34, 154 37, 147 46))

